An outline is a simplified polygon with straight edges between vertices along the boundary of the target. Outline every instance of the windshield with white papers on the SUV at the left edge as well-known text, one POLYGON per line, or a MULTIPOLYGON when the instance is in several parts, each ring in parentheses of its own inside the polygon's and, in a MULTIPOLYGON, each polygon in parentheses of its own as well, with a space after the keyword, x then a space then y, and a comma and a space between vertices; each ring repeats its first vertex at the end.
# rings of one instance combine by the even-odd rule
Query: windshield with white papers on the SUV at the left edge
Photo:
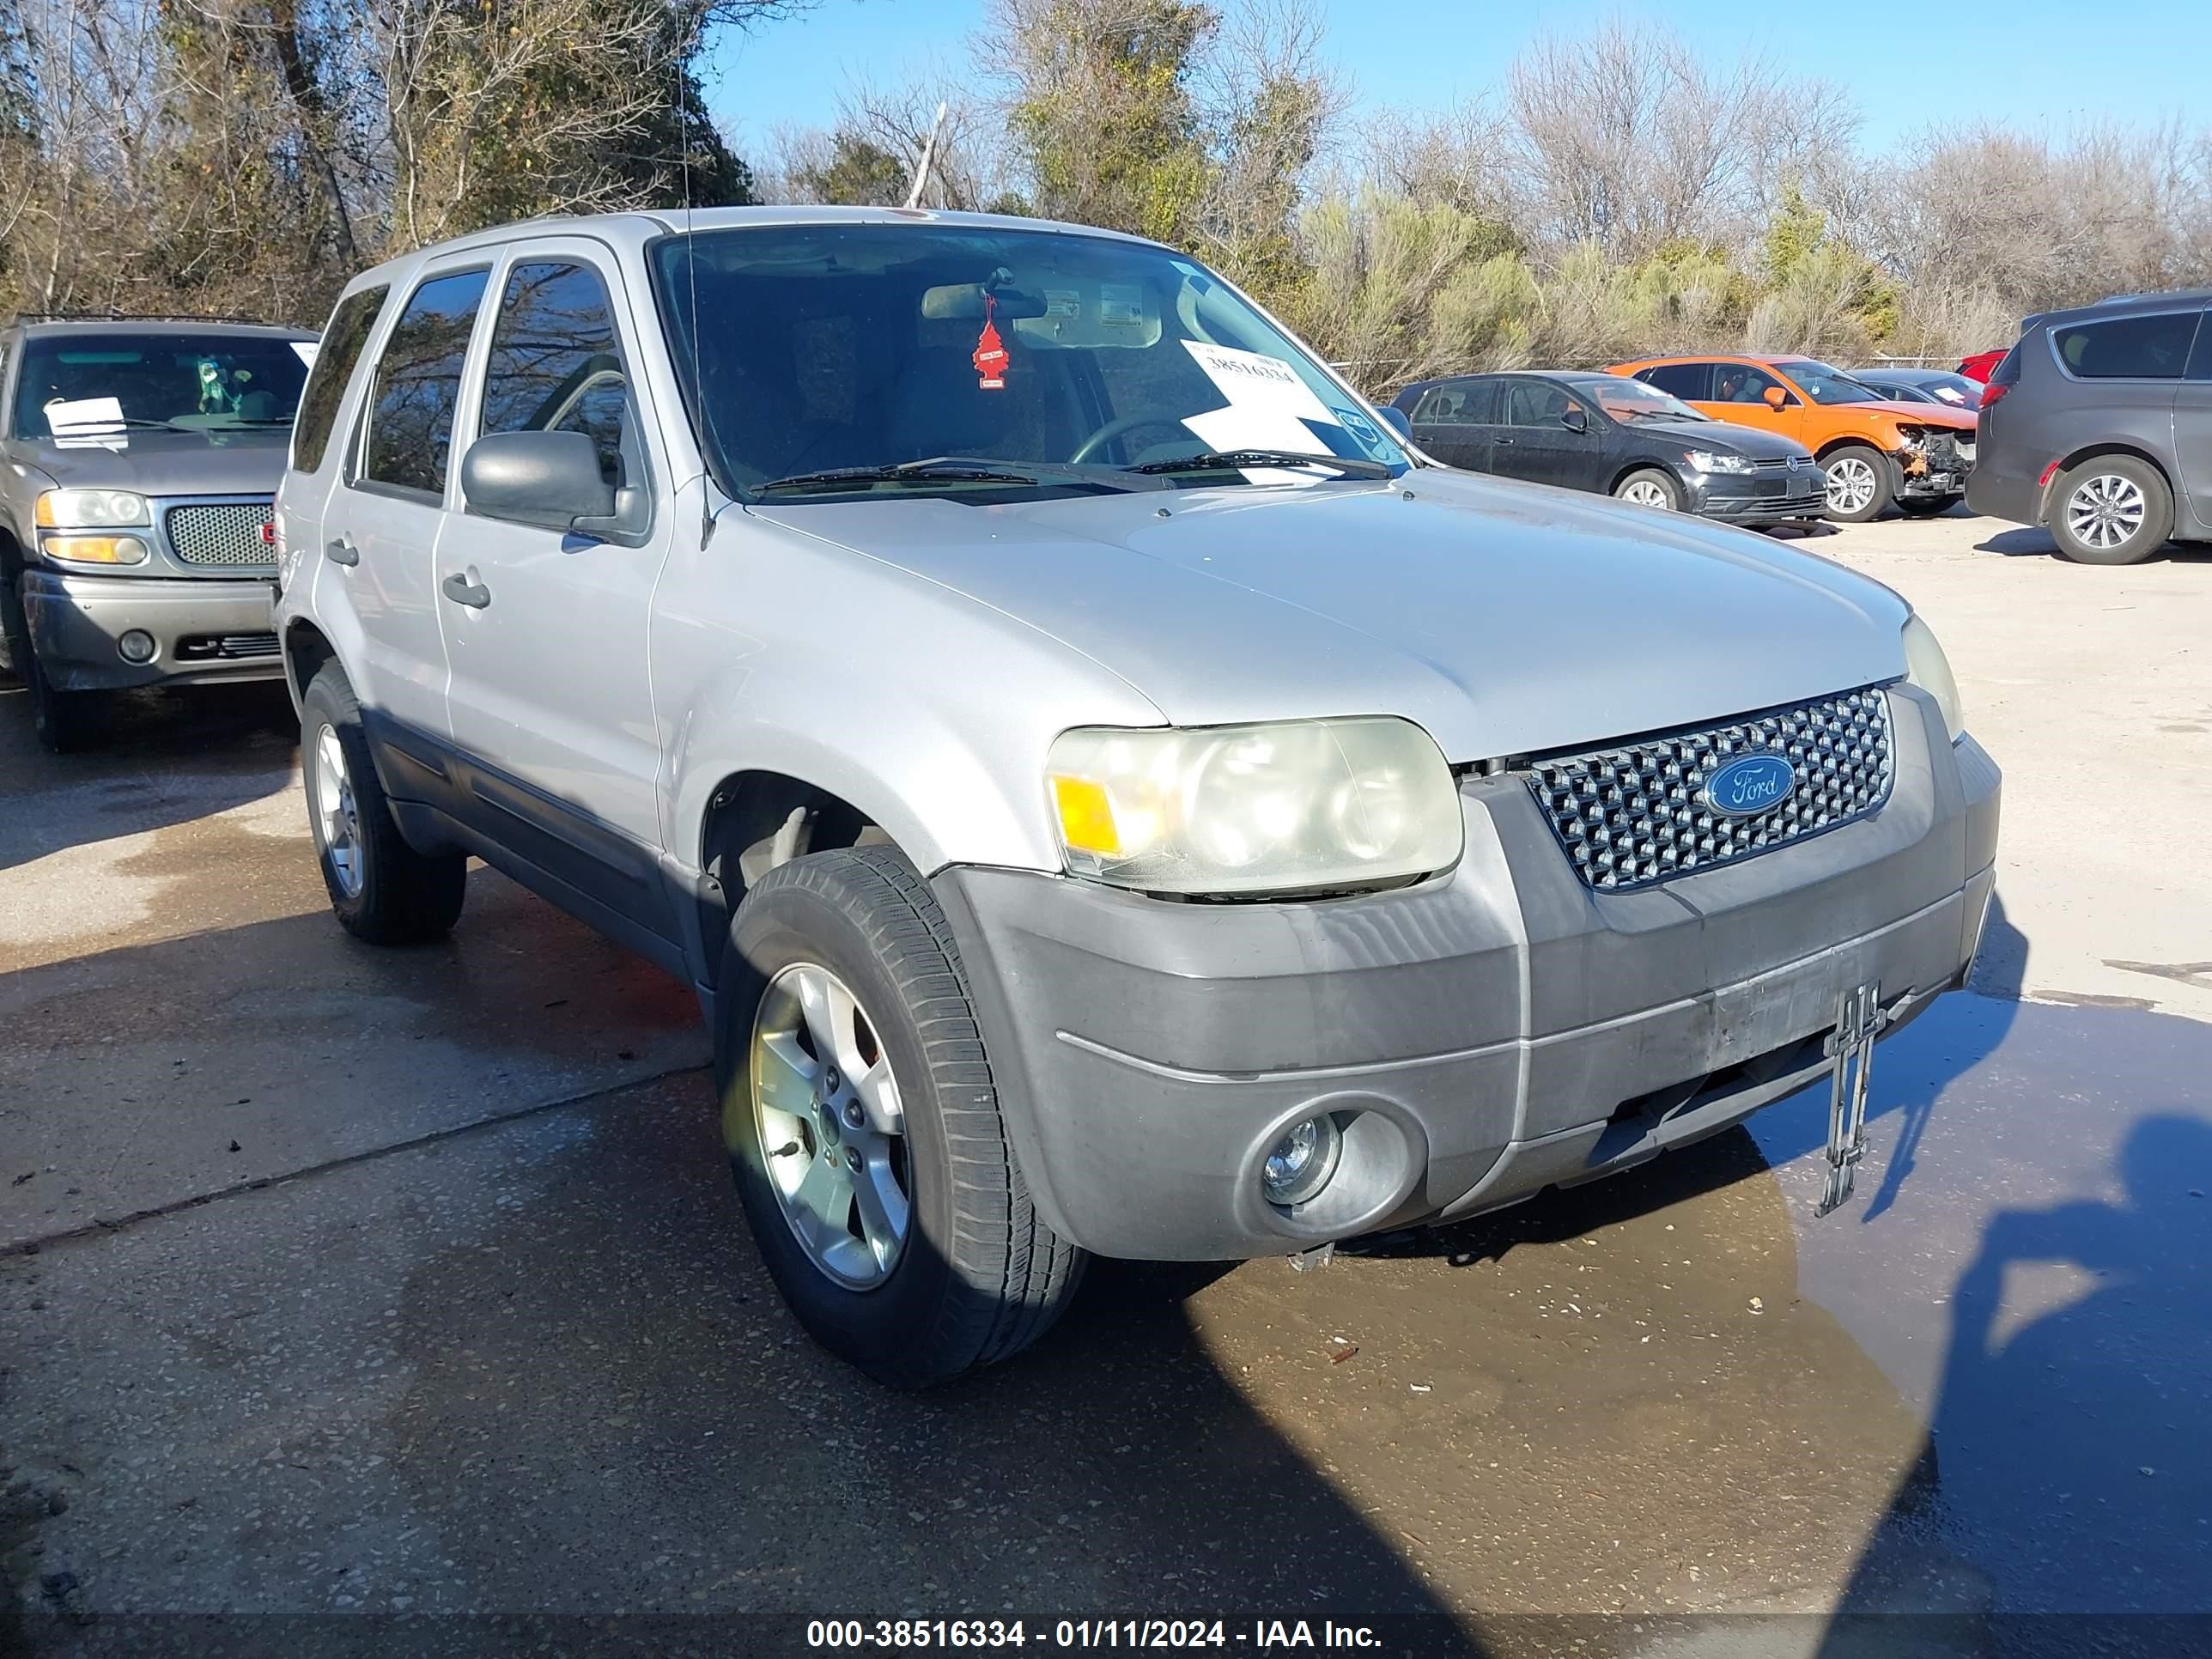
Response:
POLYGON ((290 427, 312 341, 265 334, 35 334, 15 436, 122 427, 290 427))

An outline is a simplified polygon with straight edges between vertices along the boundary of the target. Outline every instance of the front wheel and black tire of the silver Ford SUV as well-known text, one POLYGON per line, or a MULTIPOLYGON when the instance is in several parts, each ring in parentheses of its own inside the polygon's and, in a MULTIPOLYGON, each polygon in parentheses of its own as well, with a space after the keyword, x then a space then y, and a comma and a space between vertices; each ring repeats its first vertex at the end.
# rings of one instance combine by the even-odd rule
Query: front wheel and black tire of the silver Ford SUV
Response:
POLYGON ((1084 1254, 1029 1201, 951 927, 896 847, 792 858, 752 885, 723 947, 714 1073, 761 1259, 832 1354, 922 1389, 1022 1352, 1060 1318, 1084 1254), (810 982, 830 1009, 812 1024, 810 982), (880 1133, 885 1071, 896 1133, 880 1133), (905 1230, 889 1241, 894 1197, 905 1230))

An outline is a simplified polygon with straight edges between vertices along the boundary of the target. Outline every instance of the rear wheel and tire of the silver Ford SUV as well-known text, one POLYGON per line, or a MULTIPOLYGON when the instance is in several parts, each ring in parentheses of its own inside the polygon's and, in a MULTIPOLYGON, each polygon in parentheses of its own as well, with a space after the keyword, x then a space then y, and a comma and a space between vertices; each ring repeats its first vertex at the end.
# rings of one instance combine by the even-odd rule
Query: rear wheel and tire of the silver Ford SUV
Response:
POLYGON ((376 776, 361 703, 336 661, 316 670, 301 699, 299 765, 314 858, 345 931, 367 945, 451 933, 469 891, 469 858, 407 845, 376 776))

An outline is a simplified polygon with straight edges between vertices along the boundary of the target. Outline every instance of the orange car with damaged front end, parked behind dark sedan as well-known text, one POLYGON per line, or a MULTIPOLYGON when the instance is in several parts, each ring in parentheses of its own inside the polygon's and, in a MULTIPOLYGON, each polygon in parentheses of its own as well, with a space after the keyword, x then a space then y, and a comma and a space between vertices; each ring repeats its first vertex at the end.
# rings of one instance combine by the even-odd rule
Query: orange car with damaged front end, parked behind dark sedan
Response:
POLYGON ((1891 502, 1909 518, 1955 507, 1973 469, 1975 416, 1887 403, 1807 356, 1648 356, 1615 363, 1699 414, 1796 438, 1827 469, 1827 515, 1865 524, 1891 502))

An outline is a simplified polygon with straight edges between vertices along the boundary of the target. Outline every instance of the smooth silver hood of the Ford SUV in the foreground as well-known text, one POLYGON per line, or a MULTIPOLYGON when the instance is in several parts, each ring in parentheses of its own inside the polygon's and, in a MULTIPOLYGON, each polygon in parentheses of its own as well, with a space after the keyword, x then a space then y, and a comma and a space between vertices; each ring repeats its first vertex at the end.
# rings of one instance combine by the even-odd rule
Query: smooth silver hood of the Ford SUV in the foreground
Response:
POLYGON ((1905 672, 1907 606, 1878 582, 1747 531, 1447 469, 745 511, 1053 635, 1177 726, 1402 714, 1462 763, 1905 672))

